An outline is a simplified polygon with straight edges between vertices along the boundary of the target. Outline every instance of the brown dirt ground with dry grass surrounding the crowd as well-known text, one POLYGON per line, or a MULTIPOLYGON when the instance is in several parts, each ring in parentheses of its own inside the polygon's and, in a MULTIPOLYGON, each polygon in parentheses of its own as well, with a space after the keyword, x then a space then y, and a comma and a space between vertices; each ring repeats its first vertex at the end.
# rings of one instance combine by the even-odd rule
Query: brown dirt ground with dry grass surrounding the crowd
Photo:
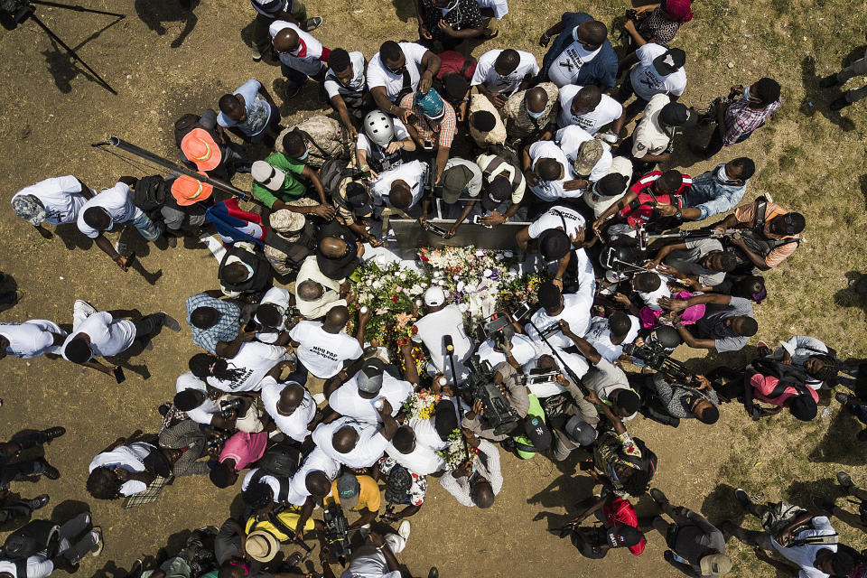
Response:
MULTIPOLYGON (((408 0, 308 0, 307 5, 310 15, 325 17, 316 36, 331 48, 361 50, 369 57, 386 38, 415 38, 415 12, 408 0)), ((42 6, 37 14, 118 96, 71 62, 34 23, 0 35, 0 174, 5 177, 0 202, 48 176, 73 173, 96 188, 114 184, 122 174, 141 176, 144 172, 90 144, 117 135, 173 157, 175 118, 216 107, 219 95, 249 78, 270 87, 280 76, 278 68, 250 58, 253 10, 244 0, 206 0, 194 6, 192 17, 182 14, 173 0, 93 0, 88 7, 127 17, 109 25, 114 19, 104 15, 42 6)), ((624 0, 595 0, 579 9, 611 24, 620 22, 615 19, 627 7, 624 0)), ((541 61, 543 51, 536 40, 566 9, 575 6, 561 0, 512 0, 499 38, 473 53, 511 46, 533 51, 541 61)), ((770 297, 759 308, 760 333, 751 343, 776 343, 803 333, 826 340, 842 356, 863 356, 867 302, 853 294, 848 281, 862 270, 867 238, 867 114, 863 103, 842 115, 829 112, 827 104, 839 92, 817 89, 816 75, 837 70, 841 61, 863 53, 862 30, 851 23, 864 22, 867 8, 842 0, 702 0, 694 9, 695 20, 674 42, 688 55, 689 86, 683 101, 707 106, 732 84, 749 84, 765 74, 778 79, 784 105, 773 122, 718 158, 722 162, 750 155, 758 172, 745 200, 771 193, 808 219, 806 243, 767 275, 770 297)), ((619 32, 615 26, 612 41, 619 32)), ((300 119, 319 109, 311 84, 281 112, 300 119)), ((681 139, 677 166, 694 175, 713 167, 713 162, 695 163, 686 146, 706 136, 681 139)), ((239 178, 236 183, 247 182, 239 178)), ((165 310, 182 319, 187 296, 216 287, 216 262, 200 245, 160 251, 144 247, 134 230, 123 231, 119 236, 141 256, 143 276, 122 273, 73 231, 60 233, 61 238, 43 240, 11 210, 0 211, 5 239, 0 269, 12 277, 4 289, 14 284, 25 294, 21 303, 3 312, 4 320, 70 323, 76 298, 88 299, 99 309, 165 310)), ((109 237, 116 240, 117 234, 109 237)), ((156 503, 131 510, 89 499, 84 485, 92 456, 135 429, 157 431, 156 407, 171 398, 175 378, 197 351, 185 325, 179 334, 163 332, 154 345, 126 363, 128 378, 121 386, 58 360, 0 363, 3 436, 54 424, 69 429, 47 448, 61 480, 18 483, 14 489, 26 497, 50 493, 45 514, 55 517, 89 504, 107 546, 100 558, 81 564, 81 575, 119 578, 136 557, 154 555, 166 544, 176 550, 186 530, 219 525, 230 505, 232 513, 238 513, 237 489, 218 491, 208 480, 177 480, 156 503)), ((752 351, 750 345, 745 355, 752 351)), ((678 357, 694 367, 702 365, 702 356, 693 351, 681 350, 678 357)), ((719 361, 733 364, 741 359, 739 354, 719 361)), ((657 452, 654 484, 674 503, 701 511, 714 522, 726 517, 741 521, 742 513, 732 506, 733 487, 743 485, 768 499, 806 506, 816 493, 839 495, 834 494, 833 478, 841 468, 852 471, 855 480, 867 479, 864 453, 854 440, 857 426, 850 416, 839 414, 835 403, 830 410, 813 424, 778 416, 757 425, 731 406, 714 427, 684 424, 675 431, 640 419, 629 427, 657 452)), ((556 464, 544 456, 517 461, 503 455, 503 464, 503 490, 489 510, 468 512, 438 483, 431 484, 423 510, 412 518, 413 536, 399 556, 414 575, 426 575, 431 565, 443 576, 676 575, 662 559, 665 542, 656 533, 648 532, 648 550, 640 557, 614 552, 595 562, 580 558, 566 540, 549 532, 592 489, 587 477, 574 472, 573 461, 556 464)), ((639 501, 639 513, 652 510, 648 502, 639 501)), ((836 526, 850 544, 864 546, 860 530, 840 522, 836 526)), ((733 540, 729 549, 737 563, 733 575, 774 575, 749 549, 733 540)))

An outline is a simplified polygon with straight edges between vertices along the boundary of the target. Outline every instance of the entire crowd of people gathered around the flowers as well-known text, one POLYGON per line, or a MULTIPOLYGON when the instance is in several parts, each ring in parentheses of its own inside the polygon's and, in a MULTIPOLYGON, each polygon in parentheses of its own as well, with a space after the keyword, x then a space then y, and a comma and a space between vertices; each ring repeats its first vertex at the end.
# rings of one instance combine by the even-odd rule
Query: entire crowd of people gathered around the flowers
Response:
MULTIPOLYGON (((641 555, 656 530, 667 562, 689 576, 729 573, 732 537, 793 575, 867 573, 867 559, 832 525, 853 515, 828 499, 805 509, 737 489, 732 503, 761 529, 714 527, 652 487, 665 463, 629 433, 638 415, 710 426, 732 402, 744 419, 787 410, 785 419, 808 422, 832 396, 867 424, 865 360, 838 358, 816 338, 760 341, 746 367, 709 361, 718 367, 702 374, 670 357, 680 345, 742 350, 759 331, 754 307, 769 299, 763 274, 787 267, 809 227, 769 194, 747 194, 756 172, 747 156, 695 176, 660 168, 678 164, 687 153, 676 140, 699 126, 713 132, 694 156, 737 150, 782 102, 767 77, 743 79, 709 108, 681 101, 690 57, 676 35, 693 17, 690 0, 630 10, 620 51, 592 15, 563 14, 538 39, 541 63, 519 47, 478 60, 458 50, 498 36, 506 0, 417 0, 417 41, 387 40, 369 57, 325 47, 313 34, 322 17, 308 17, 299 0, 251 2, 254 60, 279 61, 284 73, 276 96, 317 98, 303 92, 312 79, 331 116, 284 126, 275 97, 250 79, 215 95, 217 110, 174 124, 184 171, 123 176, 102 191, 53 177, 12 198, 14 214, 43 238, 53 237, 46 225, 75 225, 125 272, 135 254, 107 238, 116 226, 134 226, 157 247, 219 237, 219 288, 186 299, 185 324, 85 300, 75 302, 70 330, 42 319, 0 323, 0 359, 47 354, 117 383, 126 376, 105 359, 152 349, 163 327, 190 331, 200 348, 154 414, 159 432, 99 452, 87 490, 131 508, 157 500, 174 478, 207 477, 195 483, 238 488, 244 512, 196 529, 155 568, 136 561, 129 578, 303 574, 316 539, 317 575, 333 576, 335 560, 347 564, 346 578, 409 575, 396 555, 428 484, 467 508, 490 508, 508 492, 501 460, 536 453, 570 461, 601 486, 575 497, 580 511, 557 530, 583 556, 620 547, 641 555), (238 172, 251 173, 249 198, 221 185, 238 172), (461 227, 526 224, 511 229, 512 247, 492 248, 514 249, 543 281, 524 312, 498 311, 480 331, 432 284, 407 312, 411 339, 371 342, 374 312, 358 306, 353 275, 395 248, 389 218, 414 219, 452 243, 461 227), (648 492, 657 513, 639 517, 632 501, 648 492), (583 525, 592 516, 599 524, 583 525), (279 555, 286 548, 294 553, 279 555)), ((0 520, 48 503, 12 497, 10 484, 60 477, 27 452, 64 432, 0 443, 0 520)), ((838 480, 867 498, 845 472, 838 480)), ((6 539, 0 578, 43 578, 102 547, 89 514, 61 526, 32 521, 6 539)))

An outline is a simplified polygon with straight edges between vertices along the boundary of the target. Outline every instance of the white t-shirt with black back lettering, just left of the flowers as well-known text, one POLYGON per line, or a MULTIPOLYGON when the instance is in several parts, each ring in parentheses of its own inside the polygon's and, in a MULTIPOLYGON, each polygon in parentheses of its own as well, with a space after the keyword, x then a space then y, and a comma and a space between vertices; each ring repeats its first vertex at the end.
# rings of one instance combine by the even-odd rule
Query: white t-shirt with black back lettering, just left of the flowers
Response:
POLYGON ((333 378, 344 361, 359 359, 363 353, 359 340, 343 331, 329 333, 322 329, 322 322, 300 322, 289 331, 289 337, 300 344, 298 359, 317 378, 333 378))

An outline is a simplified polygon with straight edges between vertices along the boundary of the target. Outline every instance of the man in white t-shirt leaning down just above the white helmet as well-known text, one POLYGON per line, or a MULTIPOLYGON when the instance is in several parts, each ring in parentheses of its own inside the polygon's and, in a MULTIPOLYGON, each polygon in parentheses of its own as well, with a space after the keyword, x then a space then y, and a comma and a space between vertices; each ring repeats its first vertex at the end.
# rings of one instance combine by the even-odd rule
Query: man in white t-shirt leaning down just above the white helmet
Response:
POLYGON ((386 41, 368 62, 368 90, 378 108, 406 123, 412 112, 398 107, 407 94, 427 94, 443 61, 415 42, 386 41))

